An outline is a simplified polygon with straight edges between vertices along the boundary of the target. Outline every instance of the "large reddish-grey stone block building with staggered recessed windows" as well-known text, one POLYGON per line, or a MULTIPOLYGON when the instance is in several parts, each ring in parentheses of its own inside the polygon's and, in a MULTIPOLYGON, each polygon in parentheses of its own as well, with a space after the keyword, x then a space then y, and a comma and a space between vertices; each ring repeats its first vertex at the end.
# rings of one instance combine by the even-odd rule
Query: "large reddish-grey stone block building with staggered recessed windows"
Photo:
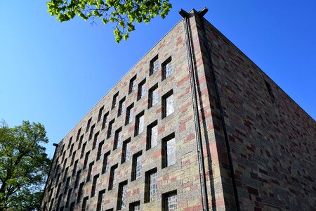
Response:
POLYGON ((206 11, 56 145, 41 210, 315 209, 315 120, 206 11))

